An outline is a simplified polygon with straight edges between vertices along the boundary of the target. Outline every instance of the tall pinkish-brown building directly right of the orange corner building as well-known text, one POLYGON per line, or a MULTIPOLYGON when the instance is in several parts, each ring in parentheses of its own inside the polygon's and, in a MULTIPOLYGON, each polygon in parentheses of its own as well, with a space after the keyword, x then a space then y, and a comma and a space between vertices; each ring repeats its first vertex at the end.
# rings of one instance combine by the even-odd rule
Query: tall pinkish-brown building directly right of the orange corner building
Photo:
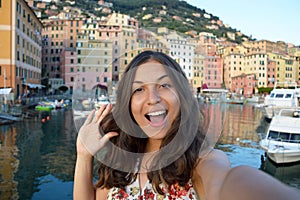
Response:
MULTIPOLYGON (((62 85, 69 85, 65 79, 68 69, 65 63, 71 62, 68 53, 76 51, 76 36, 81 32, 80 19, 49 19, 44 21, 43 29, 43 79, 48 80, 49 92, 56 92, 62 85), (66 49, 68 53, 66 53, 66 49), (68 61, 69 60, 69 61, 68 61)), ((76 57, 72 58, 75 63, 76 57)), ((47 83, 46 83, 47 84, 47 83)), ((69 88, 71 89, 71 88, 69 88)))

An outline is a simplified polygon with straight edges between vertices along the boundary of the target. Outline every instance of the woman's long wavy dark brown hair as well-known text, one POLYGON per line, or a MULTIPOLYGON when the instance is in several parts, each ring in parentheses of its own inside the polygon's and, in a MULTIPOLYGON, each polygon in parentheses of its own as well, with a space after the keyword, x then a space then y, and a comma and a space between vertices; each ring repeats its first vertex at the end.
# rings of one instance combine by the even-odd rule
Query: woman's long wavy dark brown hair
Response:
POLYGON ((124 170, 123 168, 111 168, 110 164, 107 164, 107 162, 104 164, 100 160, 97 187, 125 188, 136 179, 137 167, 140 166, 141 157, 127 156, 126 163, 120 163, 119 159, 123 158, 121 160, 124 161, 124 156, 126 156, 124 151, 133 153, 144 153, 145 151, 147 137, 131 114, 130 101, 136 69, 150 60, 158 61, 164 66, 179 95, 181 106, 179 116, 162 140, 161 151, 151 162, 151 169, 153 170, 147 172, 148 179, 154 189, 163 194, 159 187, 161 183, 166 185, 178 183, 180 186, 185 186, 192 176, 201 148, 206 145, 205 131, 200 120, 200 109, 181 67, 164 53, 144 51, 136 56, 125 69, 119 82, 117 100, 113 111, 100 125, 104 133, 110 131, 119 133, 118 137, 111 139, 110 145, 107 145, 107 153, 101 155, 101 160, 109 160, 108 163, 113 163, 114 166, 122 166, 124 170), (114 146, 118 148, 114 148, 114 146), (170 160, 172 162, 167 163, 170 160))

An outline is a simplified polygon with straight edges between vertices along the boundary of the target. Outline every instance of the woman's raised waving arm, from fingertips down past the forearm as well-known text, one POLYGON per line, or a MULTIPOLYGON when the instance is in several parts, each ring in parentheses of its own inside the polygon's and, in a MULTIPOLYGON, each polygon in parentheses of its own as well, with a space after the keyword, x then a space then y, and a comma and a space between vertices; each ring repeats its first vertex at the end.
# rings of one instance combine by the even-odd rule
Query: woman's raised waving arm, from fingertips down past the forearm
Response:
POLYGON ((74 173, 74 200, 94 200, 96 198, 96 190, 93 184, 93 155, 111 137, 118 135, 118 133, 110 132, 101 137, 99 133, 98 126, 110 110, 111 105, 108 105, 106 107, 102 106, 95 116, 95 111, 91 112, 79 130, 76 142, 77 159, 74 173))

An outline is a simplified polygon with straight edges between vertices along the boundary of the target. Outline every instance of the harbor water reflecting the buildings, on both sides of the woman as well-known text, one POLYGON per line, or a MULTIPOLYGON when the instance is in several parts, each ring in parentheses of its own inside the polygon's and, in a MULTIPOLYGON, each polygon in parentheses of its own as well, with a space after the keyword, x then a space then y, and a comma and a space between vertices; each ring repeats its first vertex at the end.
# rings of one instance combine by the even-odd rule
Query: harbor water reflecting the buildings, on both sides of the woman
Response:
MULTIPOLYGON (((255 104, 201 104, 210 119, 208 133, 232 166, 249 165, 300 188, 300 164, 274 165, 264 157, 259 140, 269 123, 255 104)), ((73 199, 77 129, 72 110, 0 126, 0 199, 73 199)))

